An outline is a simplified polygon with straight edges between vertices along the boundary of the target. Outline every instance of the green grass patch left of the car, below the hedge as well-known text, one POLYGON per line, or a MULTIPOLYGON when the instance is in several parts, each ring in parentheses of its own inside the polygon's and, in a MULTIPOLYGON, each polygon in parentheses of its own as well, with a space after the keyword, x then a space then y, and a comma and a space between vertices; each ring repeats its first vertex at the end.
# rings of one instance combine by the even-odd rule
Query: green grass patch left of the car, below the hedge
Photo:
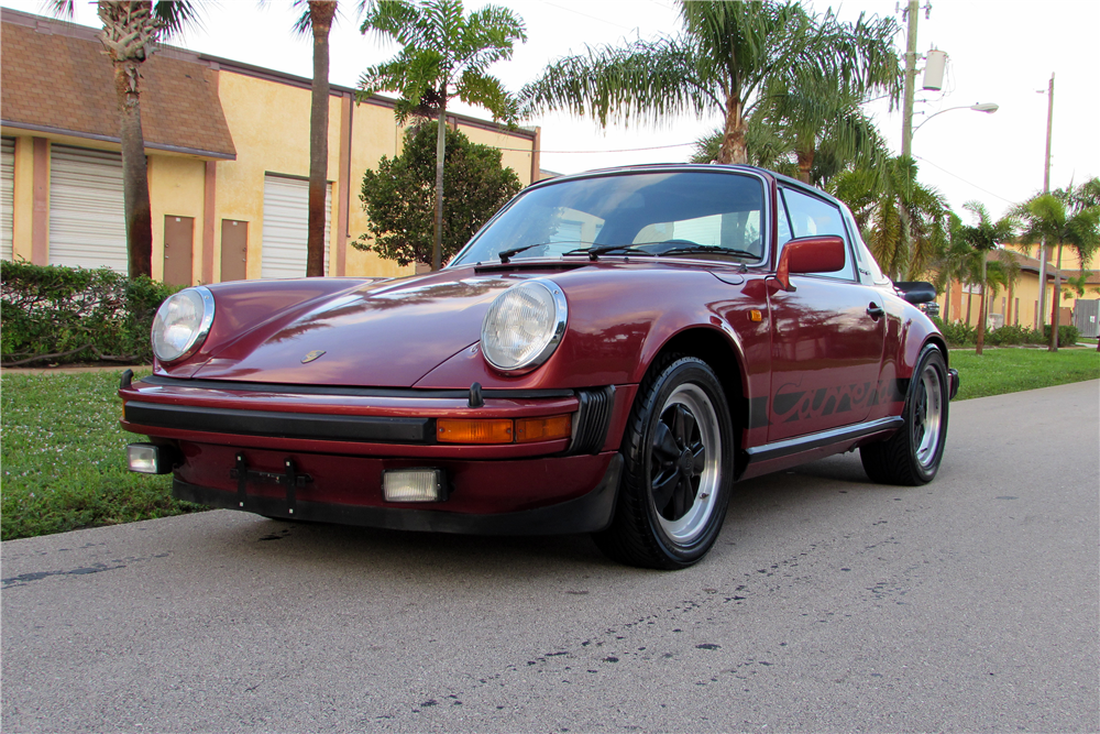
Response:
POLYGON ((0 537, 62 533, 198 510, 172 476, 134 474, 119 427, 119 372, 4 374, 0 383, 0 537))

